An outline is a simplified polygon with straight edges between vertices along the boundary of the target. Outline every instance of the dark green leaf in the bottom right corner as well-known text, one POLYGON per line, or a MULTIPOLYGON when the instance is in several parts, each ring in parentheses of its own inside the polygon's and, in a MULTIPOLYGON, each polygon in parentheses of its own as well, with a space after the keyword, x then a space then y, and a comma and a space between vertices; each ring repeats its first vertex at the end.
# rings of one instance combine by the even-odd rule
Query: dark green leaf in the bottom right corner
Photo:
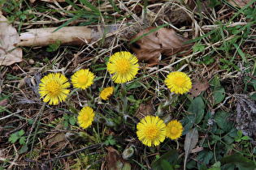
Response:
POLYGON ((256 168, 254 161, 245 158, 245 156, 236 152, 233 155, 229 155, 227 157, 223 157, 220 159, 221 164, 235 164, 237 168, 243 170, 250 170, 256 168))

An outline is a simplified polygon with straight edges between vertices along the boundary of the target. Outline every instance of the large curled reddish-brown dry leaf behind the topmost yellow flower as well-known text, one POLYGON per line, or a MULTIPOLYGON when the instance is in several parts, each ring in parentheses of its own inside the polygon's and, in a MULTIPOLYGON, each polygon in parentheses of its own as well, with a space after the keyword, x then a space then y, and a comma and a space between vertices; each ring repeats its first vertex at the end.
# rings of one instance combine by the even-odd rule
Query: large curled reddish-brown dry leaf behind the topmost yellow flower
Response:
MULTIPOLYGON (((145 30, 138 32, 132 40, 136 40, 153 30, 152 28, 145 28, 145 30)), ((183 45, 187 38, 176 34, 172 29, 159 28, 146 36, 143 36, 140 40, 132 43, 131 49, 136 54, 139 61, 145 62, 158 62, 161 54, 172 55, 191 48, 191 44, 183 45)))

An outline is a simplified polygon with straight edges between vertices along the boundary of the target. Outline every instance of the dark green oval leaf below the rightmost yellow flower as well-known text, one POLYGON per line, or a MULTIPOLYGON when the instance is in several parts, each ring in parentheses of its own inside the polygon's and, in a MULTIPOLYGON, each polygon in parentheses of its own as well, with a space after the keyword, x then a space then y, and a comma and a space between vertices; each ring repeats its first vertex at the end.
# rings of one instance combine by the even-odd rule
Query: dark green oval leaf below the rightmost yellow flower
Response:
POLYGON ((202 100, 202 97, 197 97, 192 100, 191 104, 189 105, 188 112, 194 113, 194 115, 189 115, 189 119, 194 120, 195 124, 200 123, 205 112, 204 108, 205 104, 202 100))

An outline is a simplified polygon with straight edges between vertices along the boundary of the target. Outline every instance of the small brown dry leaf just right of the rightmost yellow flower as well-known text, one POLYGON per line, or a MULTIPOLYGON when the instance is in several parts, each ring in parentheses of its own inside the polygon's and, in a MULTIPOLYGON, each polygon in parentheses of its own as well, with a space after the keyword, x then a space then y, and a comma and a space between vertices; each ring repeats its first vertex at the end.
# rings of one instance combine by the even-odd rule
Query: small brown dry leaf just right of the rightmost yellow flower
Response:
POLYGON ((209 83, 206 79, 202 79, 202 82, 200 82, 198 79, 193 81, 193 86, 190 89, 190 97, 197 97, 200 95, 202 91, 205 91, 209 87, 209 83))

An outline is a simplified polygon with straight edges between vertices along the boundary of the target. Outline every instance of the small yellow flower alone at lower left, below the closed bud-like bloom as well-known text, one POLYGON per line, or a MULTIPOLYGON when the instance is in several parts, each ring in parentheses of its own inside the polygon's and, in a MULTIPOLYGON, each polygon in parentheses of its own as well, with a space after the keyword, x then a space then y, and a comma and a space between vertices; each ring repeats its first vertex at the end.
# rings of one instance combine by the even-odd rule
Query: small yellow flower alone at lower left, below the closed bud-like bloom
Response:
POLYGON ((77 117, 78 123, 84 129, 88 128, 89 125, 92 125, 95 113, 93 112, 93 108, 86 106, 80 110, 80 113, 77 117))

